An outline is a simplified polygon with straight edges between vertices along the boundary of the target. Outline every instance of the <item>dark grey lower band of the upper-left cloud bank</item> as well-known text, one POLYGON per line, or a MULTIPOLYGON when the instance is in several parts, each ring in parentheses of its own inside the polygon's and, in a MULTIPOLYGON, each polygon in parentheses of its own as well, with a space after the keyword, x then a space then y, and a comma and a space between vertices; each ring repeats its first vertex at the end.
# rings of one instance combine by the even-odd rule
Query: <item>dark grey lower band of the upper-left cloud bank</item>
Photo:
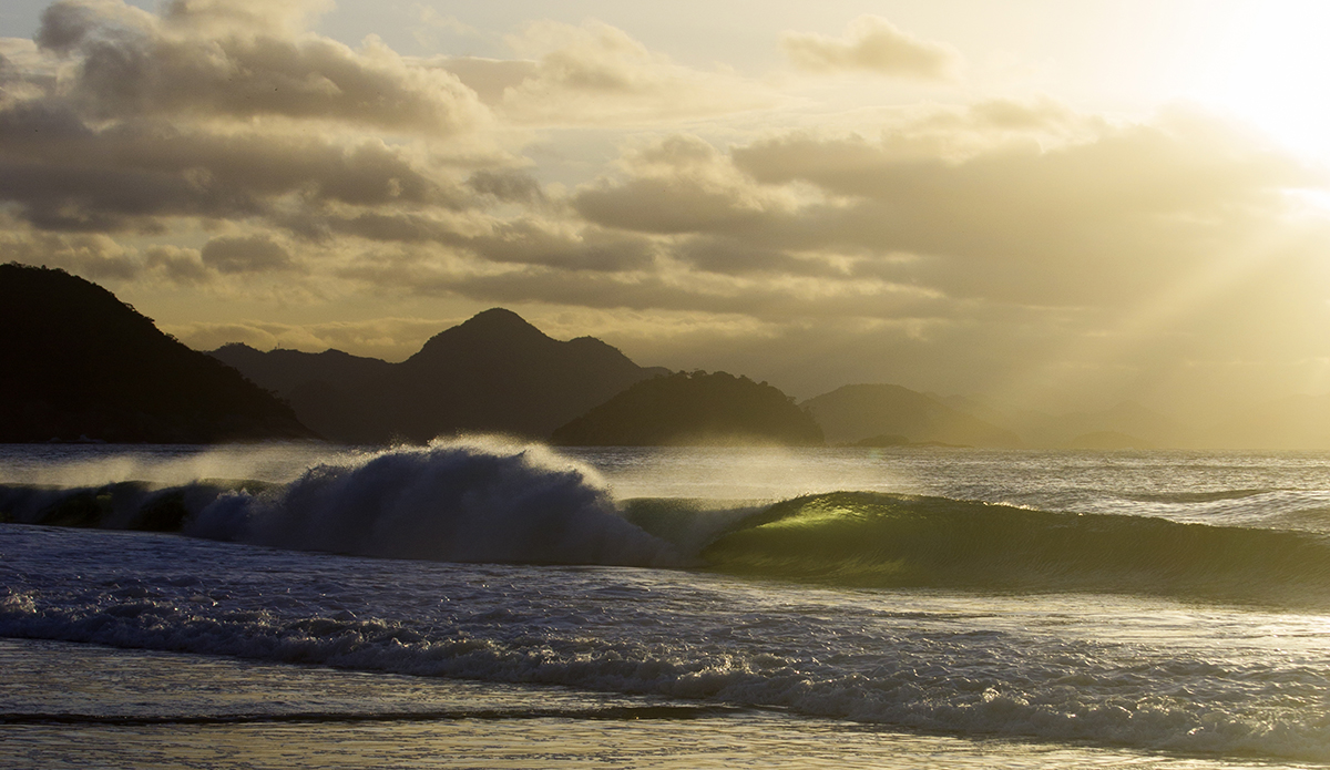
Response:
POLYGON ((160 230, 160 218, 262 217, 301 202, 447 206, 464 197, 378 140, 140 121, 93 128, 59 101, 0 108, 0 201, 49 230, 160 230))

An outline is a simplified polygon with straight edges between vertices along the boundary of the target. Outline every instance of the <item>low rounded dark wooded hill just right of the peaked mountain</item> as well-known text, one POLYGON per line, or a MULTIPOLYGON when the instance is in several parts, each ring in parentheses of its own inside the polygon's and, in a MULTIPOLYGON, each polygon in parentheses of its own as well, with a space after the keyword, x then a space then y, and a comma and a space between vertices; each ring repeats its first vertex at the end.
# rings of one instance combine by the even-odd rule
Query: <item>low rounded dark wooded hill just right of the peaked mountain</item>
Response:
POLYGON ((553 432, 561 446, 821 446, 813 418, 779 390, 724 371, 640 382, 553 432))

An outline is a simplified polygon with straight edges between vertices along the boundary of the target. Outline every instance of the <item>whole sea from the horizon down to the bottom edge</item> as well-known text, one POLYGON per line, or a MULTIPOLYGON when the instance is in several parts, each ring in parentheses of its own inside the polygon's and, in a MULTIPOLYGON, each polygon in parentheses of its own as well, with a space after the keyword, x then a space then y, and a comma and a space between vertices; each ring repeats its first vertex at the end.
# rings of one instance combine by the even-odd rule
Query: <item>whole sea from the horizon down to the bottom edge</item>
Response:
POLYGON ((0 513, 5 767, 1330 763, 1326 452, 4 446, 0 513))

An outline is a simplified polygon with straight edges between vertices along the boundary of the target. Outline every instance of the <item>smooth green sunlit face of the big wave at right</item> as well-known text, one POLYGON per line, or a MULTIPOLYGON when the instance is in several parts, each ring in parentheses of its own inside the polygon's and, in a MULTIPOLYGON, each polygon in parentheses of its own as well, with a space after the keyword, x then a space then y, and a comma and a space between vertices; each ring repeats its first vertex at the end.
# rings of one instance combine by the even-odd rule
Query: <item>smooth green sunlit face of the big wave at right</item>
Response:
POLYGON ((778 503, 701 551, 713 569, 876 588, 1148 593, 1330 605, 1317 535, 834 492, 778 503))

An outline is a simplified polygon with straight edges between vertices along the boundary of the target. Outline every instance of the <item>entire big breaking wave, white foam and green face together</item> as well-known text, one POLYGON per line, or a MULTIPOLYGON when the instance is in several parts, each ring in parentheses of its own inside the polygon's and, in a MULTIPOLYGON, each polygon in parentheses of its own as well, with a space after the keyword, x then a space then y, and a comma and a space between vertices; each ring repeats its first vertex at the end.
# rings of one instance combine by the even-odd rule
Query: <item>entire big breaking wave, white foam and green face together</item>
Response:
POLYGON ((845 586, 1330 605, 1330 540, 1298 531, 1317 528, 1326 517, 1319 507, 1281 512, 1283 527, 1271 529, 878 492, 775 504, 616 501, 592 467, 497 439, 340 457, 286 484, 0 487, 0 515, 391 559, 704 568, 845 586))

